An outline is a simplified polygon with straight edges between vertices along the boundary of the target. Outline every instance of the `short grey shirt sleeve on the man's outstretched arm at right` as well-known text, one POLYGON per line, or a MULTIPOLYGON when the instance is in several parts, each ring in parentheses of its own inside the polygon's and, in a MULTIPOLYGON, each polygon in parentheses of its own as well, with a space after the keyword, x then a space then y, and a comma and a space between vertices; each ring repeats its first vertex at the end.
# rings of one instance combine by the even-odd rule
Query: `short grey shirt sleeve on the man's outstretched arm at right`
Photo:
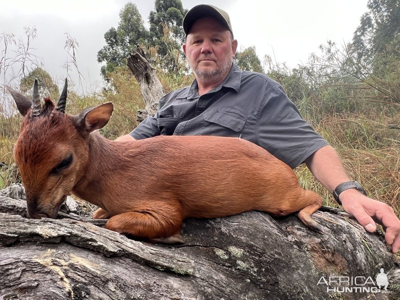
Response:
POLYGON ((328 142, 305 121, 280 85, 271 87, 259 108, 257 143, 291 168, 328 142))

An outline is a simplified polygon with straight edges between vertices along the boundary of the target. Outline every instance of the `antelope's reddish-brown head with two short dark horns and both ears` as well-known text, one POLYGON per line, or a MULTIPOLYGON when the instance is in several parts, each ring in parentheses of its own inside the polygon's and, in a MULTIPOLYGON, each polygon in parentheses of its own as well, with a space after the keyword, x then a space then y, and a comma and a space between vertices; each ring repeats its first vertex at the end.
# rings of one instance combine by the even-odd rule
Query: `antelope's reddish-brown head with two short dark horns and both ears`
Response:
POLYGON ((108 122, 112 103, 89 107, 77 115, 65 113, 66 79, 56 106, 49 98, 40 104, 37 79, 32 99, 7 89, 24 116, 13 155, 25 187, 27 216, 54 218, 84 176, 90 132, 108 122))

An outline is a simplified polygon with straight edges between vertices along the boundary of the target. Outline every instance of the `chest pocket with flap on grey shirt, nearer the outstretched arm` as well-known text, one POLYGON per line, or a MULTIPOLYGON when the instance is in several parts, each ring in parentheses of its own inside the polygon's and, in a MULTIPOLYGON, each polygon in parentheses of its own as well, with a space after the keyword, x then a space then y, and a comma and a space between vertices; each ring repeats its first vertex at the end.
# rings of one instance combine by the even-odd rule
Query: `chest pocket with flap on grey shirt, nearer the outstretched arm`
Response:
POLYGON ((236 111, 209 111, 204 113, 204 120, 229 128, 235 132, 243 129, 247 118, 236 111))

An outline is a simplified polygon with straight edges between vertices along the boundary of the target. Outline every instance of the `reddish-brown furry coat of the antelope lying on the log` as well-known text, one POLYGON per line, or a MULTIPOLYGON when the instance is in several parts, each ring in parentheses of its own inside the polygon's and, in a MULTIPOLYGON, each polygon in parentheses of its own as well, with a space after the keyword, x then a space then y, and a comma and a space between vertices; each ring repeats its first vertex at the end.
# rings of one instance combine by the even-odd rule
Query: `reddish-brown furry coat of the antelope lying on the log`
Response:
POLYGON ((101 207, 94 217, 109 218, 106 228, 145 238, 176 234, 187 217, 253 209, 273 215, 301 210, 299 218, 322 231, 310 217, 321 197, 303 190, 290 167, 261 147, 215 136, 112 141, 82 125, 97 121, 95 109, 83 121, 56 111, 33 120, 26 115, 14 157, 30 216, 55 217, 72 192, 101 207), (71 165, 51 174, 70 154, 71 165))

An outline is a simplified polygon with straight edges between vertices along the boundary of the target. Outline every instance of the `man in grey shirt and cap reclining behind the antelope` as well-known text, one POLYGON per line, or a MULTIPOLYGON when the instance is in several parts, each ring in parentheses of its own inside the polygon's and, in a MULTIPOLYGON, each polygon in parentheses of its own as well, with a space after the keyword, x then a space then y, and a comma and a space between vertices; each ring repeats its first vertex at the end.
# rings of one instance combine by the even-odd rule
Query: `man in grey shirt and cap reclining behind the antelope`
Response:
POLYGON ((162 97, 154 116, 118 140, 160 134, 248 139, 292 168, 305 162, 367 231, 376 230, 375 221, 382 224, 386 243, 397 252, 400 220, 393 209, 367 197, 359 183, 350 180, 336 151, 301 118, 278 83, 232 63, 237 41, 228 14, 212 5, 197 5, 185 15, 183 29, 183 51, 195 80, 162 97))

